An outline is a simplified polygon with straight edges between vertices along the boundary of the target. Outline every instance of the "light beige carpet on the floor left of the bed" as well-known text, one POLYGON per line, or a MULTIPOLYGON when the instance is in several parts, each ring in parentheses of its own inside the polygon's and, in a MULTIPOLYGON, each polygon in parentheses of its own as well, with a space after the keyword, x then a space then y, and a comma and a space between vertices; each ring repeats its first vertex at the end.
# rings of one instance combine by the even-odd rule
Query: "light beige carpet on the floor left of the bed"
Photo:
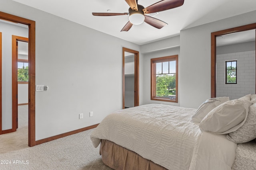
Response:
MULTIPOLYGON (((22 127, 19 129, 22 130, 22 127)), ((111 170, 102 162, 99 147, 94 148, 92 145, 90 140, 92 131, 93 129, 90 129, 35 147, 27 147, 28 141, 26 141, 26 146, 20 147, 20 149, 16 147, 14 150, 10 149, 8 152, 0 153, 0 169, 111 170), (6 161, 10 164, 4 164, 6 161)), ((0 140, 4 139, 1 136, 0 140)), ((24 136, 27 138, 27 134, 24 136)), ((6 140, 8 139, 6 138, 6 140)), ((3 143, 3 140, 0 141, 0 148, 3 148, 3 143)))

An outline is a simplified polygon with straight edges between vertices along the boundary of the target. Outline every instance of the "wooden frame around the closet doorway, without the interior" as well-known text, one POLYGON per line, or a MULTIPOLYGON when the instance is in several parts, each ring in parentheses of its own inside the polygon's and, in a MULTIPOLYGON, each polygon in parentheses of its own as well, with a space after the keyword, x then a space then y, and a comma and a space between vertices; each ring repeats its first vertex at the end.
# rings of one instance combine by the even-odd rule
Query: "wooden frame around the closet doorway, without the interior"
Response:
POLYGON ((123 109, 125 97, 125 77, 124 77, 124 52, 134 54, 134 106, 139 106, 139 52, 123 47, 123 109))

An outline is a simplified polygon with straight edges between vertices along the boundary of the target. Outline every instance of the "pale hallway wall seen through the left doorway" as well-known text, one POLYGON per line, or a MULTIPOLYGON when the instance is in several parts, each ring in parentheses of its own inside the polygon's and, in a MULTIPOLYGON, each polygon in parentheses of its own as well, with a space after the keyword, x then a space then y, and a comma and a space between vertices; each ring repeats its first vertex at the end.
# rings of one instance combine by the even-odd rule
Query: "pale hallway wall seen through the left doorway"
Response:
POLYGON ((12 35, 28 37, 28 28, 0 22, 2 32, 2 130, 12 129, 12 35))

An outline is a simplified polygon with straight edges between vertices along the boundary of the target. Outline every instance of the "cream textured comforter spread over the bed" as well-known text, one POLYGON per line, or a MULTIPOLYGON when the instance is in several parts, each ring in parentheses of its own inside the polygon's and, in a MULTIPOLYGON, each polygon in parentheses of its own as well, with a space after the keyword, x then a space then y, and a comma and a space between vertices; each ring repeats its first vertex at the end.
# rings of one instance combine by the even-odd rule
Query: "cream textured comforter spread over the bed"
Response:
POLYGON ((91 134, 94 147, 106 139, 170 170, 228 170, 236 144, 201 133, 191 122, 196 109, 148 104, 115 111, 91 134))

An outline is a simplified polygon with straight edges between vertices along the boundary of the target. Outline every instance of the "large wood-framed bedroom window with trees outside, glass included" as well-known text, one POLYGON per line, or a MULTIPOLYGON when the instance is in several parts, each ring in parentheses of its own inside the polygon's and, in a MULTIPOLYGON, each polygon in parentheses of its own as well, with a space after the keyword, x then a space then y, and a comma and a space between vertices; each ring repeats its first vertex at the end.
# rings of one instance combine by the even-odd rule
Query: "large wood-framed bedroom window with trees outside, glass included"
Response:
POLYGON ((178 55, 151 59, 151 100, 178 103, 178 55))

